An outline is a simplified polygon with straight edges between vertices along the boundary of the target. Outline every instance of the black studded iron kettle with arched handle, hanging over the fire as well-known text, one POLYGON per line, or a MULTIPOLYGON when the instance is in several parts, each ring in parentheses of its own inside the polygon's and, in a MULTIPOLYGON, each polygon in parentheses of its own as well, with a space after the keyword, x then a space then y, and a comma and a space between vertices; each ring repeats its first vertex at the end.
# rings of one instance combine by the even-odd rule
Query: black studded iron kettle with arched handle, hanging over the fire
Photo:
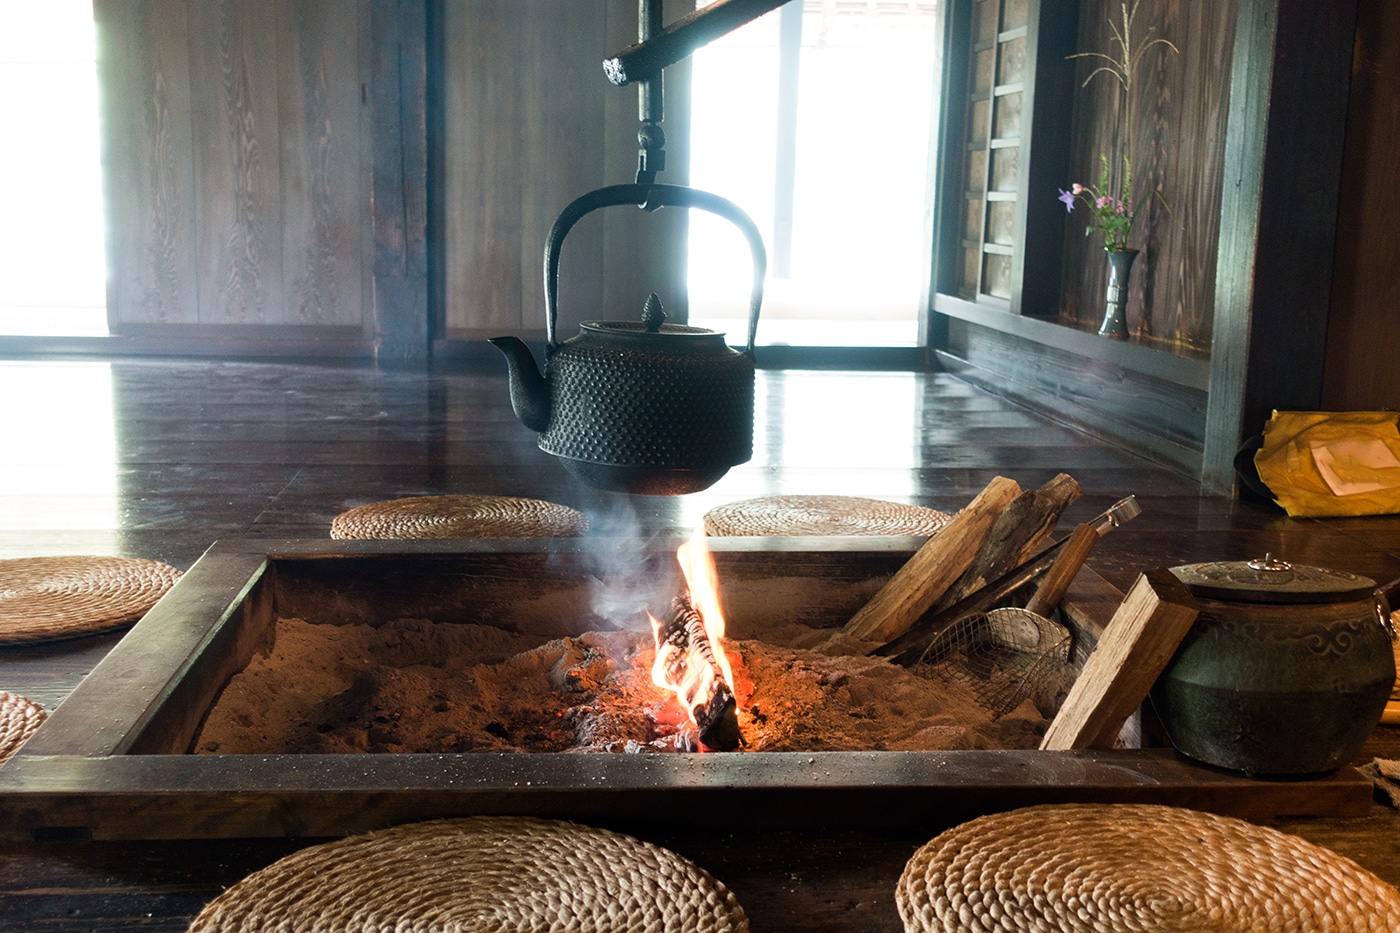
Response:
POLYGON ((491 338, 510 367, 511 406, 539 448, 581 482, 613 492, 676 496, 711 486, 753 455, 753 338, 767 255, 757 226, 734 202, 680 185, 612 185, 564 207, 545 245, 545 373, 514 336, 491 338), (748 347, 724 333, 666 324, 651 296, 640 321, 585 321, 559 343, 559 255, 585 214, 620 205, 707 210, 749 242, 753 289, 748 347))

